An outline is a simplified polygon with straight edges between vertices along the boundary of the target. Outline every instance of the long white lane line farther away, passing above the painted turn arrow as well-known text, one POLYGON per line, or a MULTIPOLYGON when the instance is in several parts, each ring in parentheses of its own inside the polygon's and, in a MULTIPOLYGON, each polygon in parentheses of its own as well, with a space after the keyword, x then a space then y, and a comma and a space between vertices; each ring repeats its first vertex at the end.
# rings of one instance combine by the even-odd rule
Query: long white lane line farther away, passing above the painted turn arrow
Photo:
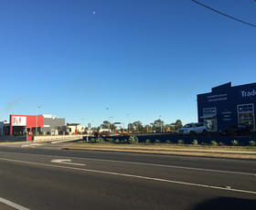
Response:
POLYGON ((69 156, 59 156, 59 155, 50 155, 50 154, 31 154, 31 153, 17 153, 17 152, 3 152, 3 153, 11 153, 11 154, 20 154, 20 155, 37 155, 43 157, 61 157, 61 158, 73 158, 73 159, 81 159, 88 161, 98 161, 98 162, 110 162, 110 163, 129 163, 129 164, 138 164, 138 165, 148 165, 148 166, 156 166, 156 167, 165 167, 165 168, 176 168, 176 169, 185 169, 185 170, 194 170, 194 171, 202 171, 202 172, 212 172, 212 173, 231 173, 238 175, 252 175, 256 176, 256 173, 244 173, 244 172, 232 172, 225 170, 215 170, 215 169, 203 169, 203 168, 194 168, 194 167, 186 167, 186 166, 177 166, 177 165, 165 165, 165 164, 155 164, 155 163, 136 163, 136 162, 124 162, 124 161, 113 161, 107 159, 96 159, 96 158, 82 158, 82 157, 69 157, 69 156))

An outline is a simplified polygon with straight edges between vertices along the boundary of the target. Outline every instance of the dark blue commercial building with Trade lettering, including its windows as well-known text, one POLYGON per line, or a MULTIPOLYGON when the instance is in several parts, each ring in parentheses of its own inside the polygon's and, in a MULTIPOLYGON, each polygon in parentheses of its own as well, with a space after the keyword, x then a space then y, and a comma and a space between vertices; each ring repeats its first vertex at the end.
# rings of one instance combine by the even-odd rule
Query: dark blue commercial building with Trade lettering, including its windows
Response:
POLYGON ((248 124, 255 131, 256 83, 232 86, 231 82, 197 95, 197 117, 209 131, 248 124))

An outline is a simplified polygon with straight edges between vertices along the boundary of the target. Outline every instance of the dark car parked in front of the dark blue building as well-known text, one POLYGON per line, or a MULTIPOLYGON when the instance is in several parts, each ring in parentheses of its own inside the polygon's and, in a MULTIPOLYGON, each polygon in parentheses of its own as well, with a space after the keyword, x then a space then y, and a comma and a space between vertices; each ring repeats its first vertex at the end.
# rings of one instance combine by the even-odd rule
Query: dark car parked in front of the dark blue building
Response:
POLYGON ((246 124, 239 125, 230 125, 227 128, 219 131, 220 135, 229 136, 229 135, 249 135, 250 128, 246 124))

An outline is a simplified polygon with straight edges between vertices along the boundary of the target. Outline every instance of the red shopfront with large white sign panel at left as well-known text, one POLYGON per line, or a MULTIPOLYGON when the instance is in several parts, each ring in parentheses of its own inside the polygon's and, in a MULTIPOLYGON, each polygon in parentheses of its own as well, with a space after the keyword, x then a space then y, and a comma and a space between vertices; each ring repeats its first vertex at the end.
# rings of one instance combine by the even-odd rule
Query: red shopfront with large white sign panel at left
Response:
POLYGON ((37 131, 44 127, 43 115, 10 115, 10 135, 37 131))

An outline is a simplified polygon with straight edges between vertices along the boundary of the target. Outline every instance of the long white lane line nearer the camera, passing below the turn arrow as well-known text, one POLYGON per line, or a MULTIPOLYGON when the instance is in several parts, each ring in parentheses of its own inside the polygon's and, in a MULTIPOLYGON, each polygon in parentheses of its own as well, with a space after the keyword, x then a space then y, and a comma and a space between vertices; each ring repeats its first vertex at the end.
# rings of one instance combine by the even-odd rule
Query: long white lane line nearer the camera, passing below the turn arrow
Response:
POLYGON ((179 182, 179 181, 175 181, 175 180, 160 179, 160 178, 141 176, 141 175, 133 175, 133 174, 128 174, 128 173, 114 173, 114 172, 106 172, 106 171, 101 171, 101 170, 93 170, 93 169, 85 169, 85 168, 74 168, 74 167, 69 167, 69 166, 53 165, 53 164, 48 164, 48 163, 34 163, 34 162, 19 161, 19 160, 14 160, 14 159, 5 159, 5 158, 0 158, 0 160, 7 161, 7 162, 27 163, 27 164, 35 164, 35 165, 42 165, 42 166, 48 166, 48 167, 55 167, 55 168, 71 169, 71 170, 82 171, 82 172, 119 175, 119 176, 124 176, 124 177, 132 177, 132 178, 151 180, 151 181, 157 181, 157 182, 164 182, 164 183, 171 183, 171 184, 183 184, 183 185, 197 186, 197 187, 210 188, 210 189, 216 189, 216 190, 225 190, 225 191, 244 193, 244 194, 256 194, 255 191, 232 189, 232 188, 227 189, 226 187, 221 187, 221 186, 186 183, 186 182, 179 182))

